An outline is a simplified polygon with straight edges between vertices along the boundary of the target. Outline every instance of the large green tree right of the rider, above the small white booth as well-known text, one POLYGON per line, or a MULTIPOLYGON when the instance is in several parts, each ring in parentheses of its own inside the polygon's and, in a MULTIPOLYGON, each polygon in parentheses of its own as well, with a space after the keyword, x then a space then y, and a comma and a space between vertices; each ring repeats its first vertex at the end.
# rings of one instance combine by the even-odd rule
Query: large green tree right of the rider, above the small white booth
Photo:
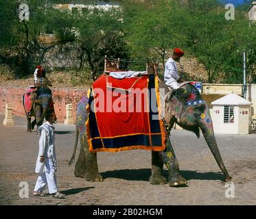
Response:
POLYGON ((250 27, 246 7, 235 8, 235 21, 226 21, 224 5, 218 1, 195 0, 186 5, 189 52, 205 65, 208 82, 242 83, 242 53, 248 56, 248 69, 253 72, 255 28, 250 27))

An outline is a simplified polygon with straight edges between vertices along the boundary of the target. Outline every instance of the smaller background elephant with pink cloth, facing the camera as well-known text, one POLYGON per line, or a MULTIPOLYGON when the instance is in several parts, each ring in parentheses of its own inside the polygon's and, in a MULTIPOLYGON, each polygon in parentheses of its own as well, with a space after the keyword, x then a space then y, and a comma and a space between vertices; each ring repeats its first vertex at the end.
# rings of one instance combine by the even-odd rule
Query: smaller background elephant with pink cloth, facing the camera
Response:
MULTIPOLYGON (((27 116, 27 132, 31 132, 35 125, 37 127, 42 125, 45 114, 49 110, 54 118, 56 118, 52 94, 49 88, 30 89, 23 94, 22 101, 27 116), (35 119, 31 123, 32 116, 34 116, 35 119)), ((57 118, 55 120, 57 120, 57 118)))

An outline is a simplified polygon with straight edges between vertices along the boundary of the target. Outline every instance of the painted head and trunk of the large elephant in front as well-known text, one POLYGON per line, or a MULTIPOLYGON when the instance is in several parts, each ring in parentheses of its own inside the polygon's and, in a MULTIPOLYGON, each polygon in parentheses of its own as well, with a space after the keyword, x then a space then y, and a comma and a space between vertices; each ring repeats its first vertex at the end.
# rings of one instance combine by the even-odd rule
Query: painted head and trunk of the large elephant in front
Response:
POLYGON ((191 83, 184 83, 181 88, 167 92, 165 96, 165 126, 171 131, 174 123, 188 131, 193 131, 200 138, 200 130, 204 136, 213 157, 222 170, 226 181, 230 181, 213 131, 213 123, 209 106, 202 99, 200 93, 191 83))

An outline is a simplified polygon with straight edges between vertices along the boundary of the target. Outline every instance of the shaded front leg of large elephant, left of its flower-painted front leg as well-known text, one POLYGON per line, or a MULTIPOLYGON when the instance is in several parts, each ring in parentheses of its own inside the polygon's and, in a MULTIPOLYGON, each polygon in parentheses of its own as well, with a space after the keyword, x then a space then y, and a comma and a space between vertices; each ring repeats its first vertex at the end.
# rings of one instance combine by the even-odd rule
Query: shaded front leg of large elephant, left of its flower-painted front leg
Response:
POLYGON ((159 151, 152 151, 152 172, 150 183, 153 185, 163 185, 167 183, 167 179, 163 177, 163 161, 159 155, 159 151))

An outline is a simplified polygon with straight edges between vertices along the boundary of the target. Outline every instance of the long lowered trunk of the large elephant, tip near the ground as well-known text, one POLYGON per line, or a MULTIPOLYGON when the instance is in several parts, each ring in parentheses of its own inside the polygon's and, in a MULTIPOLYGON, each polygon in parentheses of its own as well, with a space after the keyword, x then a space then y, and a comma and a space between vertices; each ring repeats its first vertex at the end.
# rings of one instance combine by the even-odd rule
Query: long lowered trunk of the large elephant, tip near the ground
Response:
POLYGON ((201 127, 202 134, 205 137, 205 140, 209 146, 209 149, 211 150, 211 153, 213 154, 213 157, 216 159, 216 162, 218 166, 220 167, 220 170, 222 170, 225 181, 231 181, 231 177, 229 176, 229 172, 226 170, 226 167, 224 166, 224 163, 222 161, 222 157, 220 155, 220 151, 218 149, 218 145, 216 142, 216 138, 214 136, 213 129, 207 129, 206 127, 201 127))

